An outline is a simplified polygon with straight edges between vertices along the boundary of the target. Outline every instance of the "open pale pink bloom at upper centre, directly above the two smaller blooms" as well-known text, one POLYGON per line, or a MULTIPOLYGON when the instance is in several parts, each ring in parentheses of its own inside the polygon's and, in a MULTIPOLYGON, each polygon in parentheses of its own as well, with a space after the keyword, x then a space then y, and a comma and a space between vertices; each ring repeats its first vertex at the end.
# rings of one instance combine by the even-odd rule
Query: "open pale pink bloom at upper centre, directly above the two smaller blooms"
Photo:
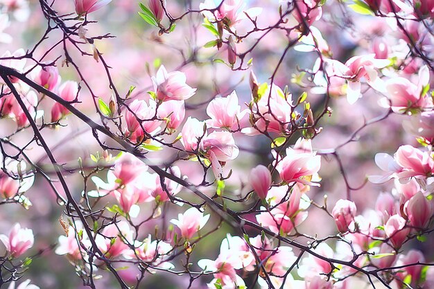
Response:
POLYGON ((211 119, 207 121, 210 128, 224 128, 226 130, 238 130, 239 121, 245 112, 241 112, 241 106, 238 105, 238 96, 236 92, 226 97, 218 97, 211 100, 207 106, 207 114, 211 119))

